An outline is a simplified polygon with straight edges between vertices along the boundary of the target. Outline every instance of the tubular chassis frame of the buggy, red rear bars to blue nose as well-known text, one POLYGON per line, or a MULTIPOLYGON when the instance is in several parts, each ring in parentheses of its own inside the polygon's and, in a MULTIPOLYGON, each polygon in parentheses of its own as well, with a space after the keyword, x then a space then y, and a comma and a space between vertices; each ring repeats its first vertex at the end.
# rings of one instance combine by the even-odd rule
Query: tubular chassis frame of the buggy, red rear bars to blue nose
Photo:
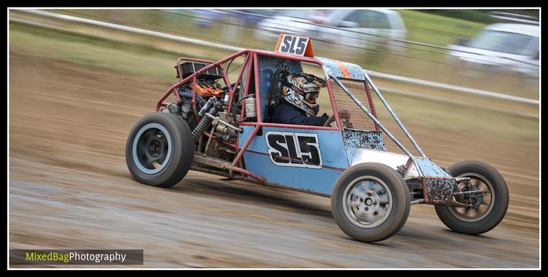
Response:
MULTIPOLYGON (((227 105, 227 114, 229 114, 234 107, 232 107, 234 94, 236 91, 236 88, 238 88, 240 85, 242 85, 242 92, 244 94, 243 97, 247 96, 247 92, 249 91, 249 88, 251 86, 254 86, 254 93, 256 99, 261 98, 261 92, 260 92, 260 85, 259 85, 259 72, 258 72, 258 58, 259 57, 273 57, 278 58, 282 60, 292 60, 296 62, 305 62, 308 64, 315 64, 316 66, 320 66, 323 70, 323 73, 325 75, 326 79, 326 86, 327 86, 327 92, 329 94, 329 101, 331 103, 333 112, 334 112, 334 122, 336 124, 335 127, 315 127, 315 126, 302 126, 299 127, 300 129, 309 129, 309 130, 329 130, 329 131, 340 131, 344 132, 345 129, 343 127, 343 124, 341 123, 341 119, 339 116, 339 112, 337 110, 337 105, 334 101, 334 92, 332 89, 332 83, 328 80, 333 80, 337 85, 340 86, 340 88, 343 89, 343 91, 352 99, 352 101, 360 107, 360 109, 375 122, 375 126, 377 129, 381 129, 384 131, 388 137, 390 137, 390 140, 393 140, 395 144, 408 156, 408 162, 406 163, 406 168, 412 168, 414 170, 414 174, 409 174, 410 170, 407 170, 406 176, 404 176, 406 183, 411 188, 413 187, 419 187, 422 190, 422 196, 421 198, 414 198, 411 196, 411 204, 432 204, 432 205, 448 205, 448 206, 454 206, 454 207, 471 207, 471 204, 464 204, 462 202, 456 201, 453 196, 456 196, 458 194, 462 194, 462 192, 459 192, 458 189, 456 189, 456 186, 458 183, 463 181, 469 181, 467 178, 455 178, 448 174, 443 168, 440 168, 435 163, 433 163, 423 152, 419 144, 416 143, 408 129, 406 129, 405 125, 399 120, 398 116, 395 114, 395 111, 390 107, 382 93, 379 91, 375 83, 371 80, 369 75, 367 75, 365 70, 362 70, 362 73, 364 75, 364 79, 366 81, 366 91, 368 93, 368 98, 371 101, 371 92, 369 90, 369 87, 367 84, 371 85, 371 88, 373 88, 373 91, 378 96, 378 98, 382 101, 388 112, 391 116, 393 116, 394 120, 397 122, 403 133, 406 135, 408 140, 412 143, 414 148, 419 153, 419 157, 416 157, 412 155, 412 153, 405 147, 403 144, 391 133, 386 127, 384 127, 384 124, 377 120, 375 116, 375 110, 374 106, 371 106, 371 111, 365 107, 363 103, 360 102, 356 96, 352 94, 352 92, 349 91, 348 88, 340 81, 340 76, 336 76, 332 70, 329 69, 329 67, 326 65, 325 60, 320 60, 312 57, 300 57, 296 55, 288 55, 284 53, 275 53, 271 51, 260 51, 260 50, 253 50, 253 49, 245 49, 242 51, 238 51, 237 53, 234 53, 232 55, 229 55, 228 57, 225 57, 222 60, 219 60, 217 62, 210 61, 210 60, 200 60, 200 59, 193 59, 188 57, 179 57, 177 59, 177 64, 175 68, 177 68, 177 73, 179 77, 179 81, 175 84, 173 84, 160 98, 158 99, 158 102, 155 105, 155 110, 160 111, 162 107, 167 107, 169 103, 164 102, 164 100, 170 96, 171 94, 175 94, 177 97, 177 101, 182 101, 181 96, 177 93, 177 88, 179 88, 181 85, 184 85, 189 82, 196 83, 197 76, 202 74, 203 72, 206 72, 207 70, 210 70, 212 68, 218 67, 221 69, 221 72, 223 74, 223 81, 225 84, 229 85, 229 77, 227 73, 225 72, 225 69, 223 68, 223 64, 225 62, 229 62, 231 60, 234 60, 238 57, 245 56, 244 62, 242 64, 242 70, 240 70, 240 73, 238 74, 238 77, 236 79, 236 82, 230 85, 230 89, 227 92, 229 95, 229 101, 227 105), (201 68, 201 70, 198 70, 194 74, 183 78, 180 64, 182 62, 203 62, 206 64, 209 64, 208 66, 201 68), (247 77, 245 77, 245 81, 242 83, 242 77, 244 74, 247 74, 247 77), (251 75, 254 75, 253 77, 251 75), (425 174, 427 172, 427 174, 425 174)), ((338 61, 335 61, 339 63, 338 61)), ((347 76, 349 77, 349 76, 347 76)), ((197 117, 198 120, 200 120, 198 111, 197 111, 197 95, 194 89, 194 92, 192 93, 192 110, 197 117)), ((251 132, 251 135, 247 138, 246 142, 240 147, 239 146, 239 140, 240 137, 237 138, 236 144, 231 144, 229 142, 221 141, 222 144, 225 146, 228 146, 237 153, 235 159, 232 161, 232 163, 227 163, 226 161, 221 161, 220 159, 208 157, 204 155, 203 153, 195 153, 195 163, 192 164, 191 170, 197 170, 201 172, 207 172, 212 174, 218 174, 221 176, 227 176, 231 179, 245 179, 248 181, 253 181, 255 183, 260 183, 263 185, 274 185, 276 187, 285 187, 288 189, 295 189, 301 192, 306 192, 310 194, 317 194, 321 196, 327 196, 329 197, 329 194, 325 193, 317 193, 312 192, 308 189, 296 189, 294 187, 286 187, 283 184, 279 183, 269 183, 264 177, 260 176, 259 174, 256 174, 254 172, 251 172, 243 166, 242 159, 244 153, 248 150, 249 144, 253 140, 253 138, 256 137, 256 135, 259 133, 259 131, 264 127, 278 127, 278 128, 295 128, 295 125, 291 124, 277 124, 277 123, 269 123, 269 122, 262 122, 262 105, 260 101, 256 101, 256 111, 257 111, 257 117, 255 122, 240 122, 240 124, 235 124, 235 122, 227 122, 230 127, 239 128, 240 126, 249 126, 253 127, 253 131, 251 132), (239 126, 235 126, 239 125, 239 126), (207 165, 208 168, 205 168, 200 165, 207 165), (212 170, 210 167, 218 168, 219 170, 212 170), (228 173, 226 172, 228 171, 228 173)), ((240 120, 244 118, 244 113, 242 112, 240 114, 240 120)), ((208 139, 210 140, 216 140, 211 133, 204 132, 204 135, 199 140, 199 147, 201 144, 206 143, 204 142, 208 139)), ((478 191, 478 192, 469 192, 466 195, 468 196, 482 196, 484 192, 478 191)))

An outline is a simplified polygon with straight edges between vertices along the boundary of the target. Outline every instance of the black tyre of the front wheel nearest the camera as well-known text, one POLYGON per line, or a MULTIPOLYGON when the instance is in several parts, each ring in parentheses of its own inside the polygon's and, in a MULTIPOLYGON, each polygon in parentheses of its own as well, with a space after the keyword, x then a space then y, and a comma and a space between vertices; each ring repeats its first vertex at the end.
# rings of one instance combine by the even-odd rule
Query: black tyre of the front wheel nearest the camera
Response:
MULTIPOLYGON (((358 189, 359 191, 360 189, 358 189)), ((370 189, 369 192, 372 192, 372 190, 370 189)), ((331 196, 331 210, 339 228, 353 239, 366 242, 382 241, 395 235, 406 224, 410 210, 409 189, 406 182, 403 181, 403 177, 393 168, 382 163, 360 163, 347 169, 337 179, 331 196), (352 193, 353 187, 360 187, 356 184, 361 183, 361 186, 367 184, 361 182, 364 180, 375 181, 376 183, 372 187, 378 188, 376 184, 383 186, 384 192, 381 192, 380 196, 388 197, 388 205, 385 205, 384 208, 379 206, 375 209, 374 204, 376 202, 371 202, 371 200, 369 200, 369 205, 373 206, 367 205, 367 199, 369 197, 371 197, 369 199, 375 199, 376 192, 371 196, 368 190, 364 189, 363 196, 365 199, 359 196, 362 194, 361 192, 360 194, 352 193), (379 181, 384 184, 379 183, 379 181), (358 201, 351 200, 355 195, 358 201), (352 206, 349 204, 350 202, 361 204, 358 205, 359 207, 350 207, 352 206), (360 221, 358 219, 360 215, 356 215, 356 211, 362 211, 362 214, 366 213, 367 207, 371 209, 369 213, 373 211, 373 217, 380 217, 376 221, 373 219, 372 221, 375 223, 370 224, 371 226, 362 224, 361 222, 365 221, 360 221), (375 211, 384 211, 384 215, 380 215, 381 213, 375 214, 375 211)))

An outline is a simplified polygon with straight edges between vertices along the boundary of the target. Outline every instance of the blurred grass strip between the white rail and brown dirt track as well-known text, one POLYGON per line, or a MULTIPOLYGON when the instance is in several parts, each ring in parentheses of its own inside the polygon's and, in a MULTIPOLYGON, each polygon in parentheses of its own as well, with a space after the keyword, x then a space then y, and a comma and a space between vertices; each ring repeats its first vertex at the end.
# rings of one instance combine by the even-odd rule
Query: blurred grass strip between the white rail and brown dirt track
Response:
MULTIPOLYGON (((62 34, 47 29, 10 24, 10 51, 22 55, 47 57, 90 66, 101 70, 112 70, 129 75, 150 77, 175 83, 175 60, 177 55, 153 51, 149 47, 82 38, 62 34)), ((192 57, 192 49, 181 56, 192 57)), ((212 60, 216 60, 212 57, 212 60)), ((231 69, 236 68, 234 64, 231 69)), ((318 68, 312 73, 320 74, 318 68)), ((236 78, 238 70, 232 73, 231 80, 236 78)), ((158 95, 162 92, 158 92, 158 95)), ((495 114, 490 111, 469 107, 455 107, 442 103, 431 103, 387 94, 386 98, 406 124, 418 124, 445 131, 464 131, 485 137, 504 140, 525 140, 538 142, 538 122, 495 114)), ((321 94, 319 103, 329 107, 327 94, 321 94)), ((377 103, 379 118, 390 120, 377 103)))

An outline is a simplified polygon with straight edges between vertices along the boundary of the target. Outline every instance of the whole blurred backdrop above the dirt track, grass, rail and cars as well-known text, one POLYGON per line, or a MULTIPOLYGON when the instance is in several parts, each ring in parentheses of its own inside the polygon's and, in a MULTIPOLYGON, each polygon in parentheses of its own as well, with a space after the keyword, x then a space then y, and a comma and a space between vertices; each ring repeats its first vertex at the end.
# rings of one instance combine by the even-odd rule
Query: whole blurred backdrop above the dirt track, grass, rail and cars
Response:
MULTIPOLYGON (((173 41, 12 10, 10 51, 171 82, 174 81, 173 61, 177 57, 220 60, 234 52, 220 48, 219 44, 273 50, 279 33, 286 32, 312 38, 317 56, 353 62, 370 72, 388 74, 373 74, 372 77, 390 96, 475 107, 534 121, 524 123, 533 127, 527 131, 493 128, 493 124, 466 127, 468 131, 487 128, 490 132, 508 134, 510 131, 512 135, 529 135, 529 138, 538 133, 538 128, 534 127, 538 122, 539 98, 538 10, 47 12, 158 31, 202 43, 173 41), (434 81, 438 86, 428 85, 427 81, 434 81), (468 90, 464 93, 451 90, 451 85, 468 90), (493 98, 481 96, 485 94, 479 92, 478 96, 477 90, 498 94, 493 98), (501 100, 506 95, 519 99, 501 100)), ((407 111, 420 112, 408 109, 403 112, 407 111)), ((422 117, 420 122, 432 120, 432 116, 425 114, 416 116, 416 120, 422 117)), ((449 129, 453 128, 447 122, 447 116, 442 117, 445 122, 438 122, 438 126, 449 124, 449 129)), ((470 121, 466 115, 459 118, 470 121)))

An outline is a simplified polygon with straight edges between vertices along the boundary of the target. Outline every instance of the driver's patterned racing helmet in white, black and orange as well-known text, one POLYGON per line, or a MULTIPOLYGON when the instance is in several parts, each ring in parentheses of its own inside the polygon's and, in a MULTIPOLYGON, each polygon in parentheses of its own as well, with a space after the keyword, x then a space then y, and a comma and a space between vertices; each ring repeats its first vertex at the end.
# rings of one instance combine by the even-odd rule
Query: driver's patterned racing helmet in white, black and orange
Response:
POLYGON ((325 87, 325 80, 312 74, 299 72, 288 75, 282 87, 282 98, 303 110, 310 116, 316 116, 320 106, 316 103, 320 89, 325 87))

